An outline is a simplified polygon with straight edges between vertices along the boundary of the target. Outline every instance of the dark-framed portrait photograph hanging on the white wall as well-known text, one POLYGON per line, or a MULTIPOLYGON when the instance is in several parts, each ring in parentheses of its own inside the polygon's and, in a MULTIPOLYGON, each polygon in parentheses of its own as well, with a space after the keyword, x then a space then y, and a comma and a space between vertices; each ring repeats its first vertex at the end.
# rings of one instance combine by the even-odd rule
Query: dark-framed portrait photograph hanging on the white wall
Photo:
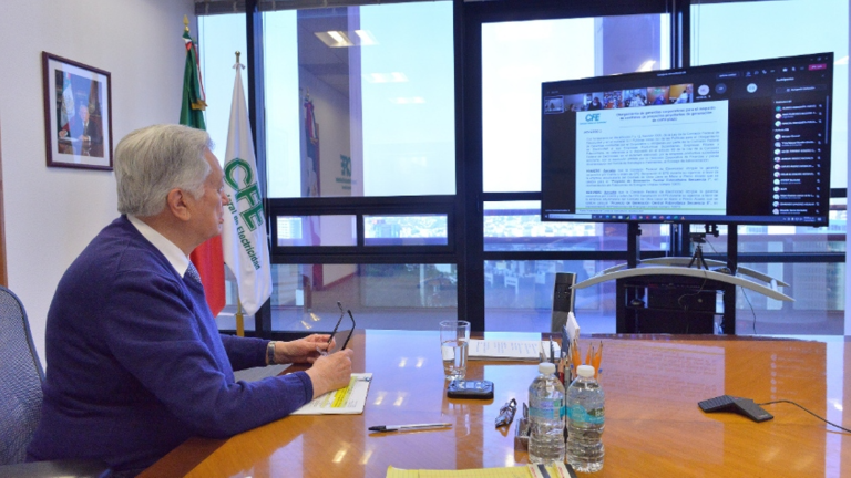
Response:
POLYGON ((110 72, 41 53, 48 166, 112 169, 110 72))

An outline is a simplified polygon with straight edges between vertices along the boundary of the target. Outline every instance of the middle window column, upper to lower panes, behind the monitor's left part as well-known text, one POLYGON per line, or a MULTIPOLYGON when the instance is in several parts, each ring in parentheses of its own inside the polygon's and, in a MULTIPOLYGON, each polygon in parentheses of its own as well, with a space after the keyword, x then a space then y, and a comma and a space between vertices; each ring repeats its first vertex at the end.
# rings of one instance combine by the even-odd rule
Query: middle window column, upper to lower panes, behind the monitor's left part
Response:
MULTIPOLYGON (((582 280, 603 270, 595 254, 627 250, 625 225, 542 222, 540 200, 510 200, 541 191, 541 83, 666 69, 669 30, 657 13, 482 24, 483 189, 494 199, 483 207, 486 330, 548 330, 555 273, 582 280), (512 256, 523 252, 552 256, 512 256)), ((664 252, 669 242, 667 226, 643 227, 642 250, 664 252)), ((614 332, 614 284, 581 295, 584 324, 614 332)))

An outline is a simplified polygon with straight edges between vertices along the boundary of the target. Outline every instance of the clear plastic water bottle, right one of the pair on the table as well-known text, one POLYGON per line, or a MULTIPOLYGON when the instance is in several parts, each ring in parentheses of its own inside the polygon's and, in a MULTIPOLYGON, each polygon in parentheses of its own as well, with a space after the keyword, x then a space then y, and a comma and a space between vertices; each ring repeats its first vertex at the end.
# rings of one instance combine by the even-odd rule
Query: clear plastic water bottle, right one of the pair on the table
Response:
POLYGON ((582 472, 603 468, 605 396, 594 380, 594 367, 580 365, 567 387, 567 463, 582 472))

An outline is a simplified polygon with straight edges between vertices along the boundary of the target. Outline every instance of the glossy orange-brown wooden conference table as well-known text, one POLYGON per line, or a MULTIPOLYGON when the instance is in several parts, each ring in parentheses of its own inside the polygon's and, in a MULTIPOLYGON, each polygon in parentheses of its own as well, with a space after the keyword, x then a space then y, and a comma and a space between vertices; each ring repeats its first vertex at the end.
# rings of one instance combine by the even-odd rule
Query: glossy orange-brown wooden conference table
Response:
MULTIPOLYGON (((791 399, 845 428, 848 345, 717 336, 588 337, 604 343, 606 457, 597 477, 851 476, 851 438, 789 404, 775 419, 704 414, 697 402, 730 394, 791 399), (837 354, 837 350, 839 353, 837 354), (837 356, 838 355, 838 356, 837 356), (830 370, 828 366, 830 365, 830 370)), ((227 440, 193 438, 144 477, 383 477, 388 466, 469 469, 526 464, 499 408, 527 402, 536 364, 470 362, 468 378, 493 401, 449 399, 437 332, 359 331, 355 372, 372 372, 362 415, 290 416, 227 440), (452 428, 370 433, 373 425, 450 422, 452 428)), ((851 368, 850 368, 851 370, 851 368)), ((521 412, 517 412, 517 416, 521 412)), ((588 475, 589 476, 589 475, 588 475)))

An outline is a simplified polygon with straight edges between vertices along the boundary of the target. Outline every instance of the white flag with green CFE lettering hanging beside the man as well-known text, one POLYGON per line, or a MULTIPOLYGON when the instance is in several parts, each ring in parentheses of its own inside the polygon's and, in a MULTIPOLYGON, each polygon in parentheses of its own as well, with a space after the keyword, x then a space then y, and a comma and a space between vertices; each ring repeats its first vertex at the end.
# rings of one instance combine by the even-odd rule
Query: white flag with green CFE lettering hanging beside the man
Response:
POLYGON ((230 126, 225 152, 225 194, 230 200, 225 216, 222 246, 225 263, 236 277, 239 301, 245 313, 253 314, 271 294, 271 268, 263 212, 260 188, 257 183, 252 127, 245 104, 244 67, 237 60, 234 96, 230 102, 230 126))

